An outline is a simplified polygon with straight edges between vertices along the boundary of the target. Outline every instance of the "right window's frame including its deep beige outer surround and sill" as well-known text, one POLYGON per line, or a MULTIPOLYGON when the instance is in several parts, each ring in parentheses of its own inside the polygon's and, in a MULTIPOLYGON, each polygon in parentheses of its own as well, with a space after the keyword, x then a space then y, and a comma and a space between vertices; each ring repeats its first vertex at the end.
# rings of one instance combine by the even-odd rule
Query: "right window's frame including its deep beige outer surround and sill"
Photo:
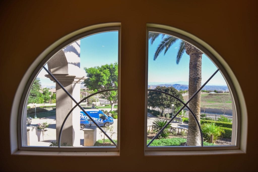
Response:
MULTIPOLYGON (((215 72, 215 71, 214 71, 215 72)), ((243 111, 246 109, 245 102, 243 101, 243 95, 241 95, 241 88, 238 84, 236 77, 229 68, 228 64, 223 60, 223 58, 207 43, 200 40, 198 37, 180 30, 178 28, 164 26, 161 24, 147 24, 146 30, 146 93, 145 93, 145 137, 144 137, 144 149, 145 155, 169 155, 169 154, 201 154, 205 153, 205 150, 214 150, 215 153, 219 153, 225 150, 241 150, 240 152, 245 152, 246 147, 246 136, 244 136, 240 128, 244 125, 247 119, 247 112, 243 111), (197 47, 199 50, 204 52, 207 57, 220 69, 221 74, 225 78, 229 86, 229 90, 232 98, 232 114, 233 114, 233 124, 232 124, 232 140, 235 141, 235 145, 222 145, 222 146, 147 146, 147 108, 148 108, 148 47, 149 47, 149 32, 159 32, 167 35, 171 35, 182 39, 193 46, 197 47), (227 69, 227 70, 225 70, 227 69), (241 98, 240 98, 241 97, 241 98), (242 101, 240 101, 242 100, 242 101), (241 145, 241 147, 240 147, 241 145), (181 152, 180 152, 181 151, 181 152), (184 152, 184 151, 187 151, 184 152), (196 152, 198 151, 198 153, 196 152)), ((242 127, 243 128, 243 127, 242 127)), ((244 127, 246 128, 246 126, 244 127)), ((207 152, 206 152, 207 153, 207 152)))

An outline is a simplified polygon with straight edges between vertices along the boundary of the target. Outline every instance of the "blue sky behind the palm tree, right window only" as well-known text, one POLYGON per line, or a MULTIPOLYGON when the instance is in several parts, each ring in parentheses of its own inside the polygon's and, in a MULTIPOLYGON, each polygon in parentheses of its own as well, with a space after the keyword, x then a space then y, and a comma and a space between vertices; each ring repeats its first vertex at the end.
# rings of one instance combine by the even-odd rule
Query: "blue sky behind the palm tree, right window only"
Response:
MULTIPOLYGON (((148 84, 160 83, 180 83, 188 85, 189 78, 189 60, 190 57, 186 53, 183 54, 179 64, 176 64, 176 54, 178 51, 178 42, 170 47, 166 55, 160 53, 154 61, 153 56, 158 46, 161 36, 158 37, 151 45, 149 41, 148 53, 148 84)), ((202 84, 217 70, 214 63, 205 55, 202 55, 202 84)), ((221 73, 218 72, 207 85, 227 85, 221 73)))

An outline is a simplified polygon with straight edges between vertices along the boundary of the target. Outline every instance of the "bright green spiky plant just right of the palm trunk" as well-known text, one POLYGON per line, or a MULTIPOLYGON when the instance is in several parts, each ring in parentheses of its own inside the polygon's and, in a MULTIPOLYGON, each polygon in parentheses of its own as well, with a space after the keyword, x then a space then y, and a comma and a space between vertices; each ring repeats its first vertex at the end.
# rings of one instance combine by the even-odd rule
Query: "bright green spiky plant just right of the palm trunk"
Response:
POLYGON ((201 125, 201 131, 203 133, 203 138, 209 143, 213 143, 215 140, 220 138, 222 133, 225 133, 224 129, 216 126, 215 123, 206 123, 201 125))

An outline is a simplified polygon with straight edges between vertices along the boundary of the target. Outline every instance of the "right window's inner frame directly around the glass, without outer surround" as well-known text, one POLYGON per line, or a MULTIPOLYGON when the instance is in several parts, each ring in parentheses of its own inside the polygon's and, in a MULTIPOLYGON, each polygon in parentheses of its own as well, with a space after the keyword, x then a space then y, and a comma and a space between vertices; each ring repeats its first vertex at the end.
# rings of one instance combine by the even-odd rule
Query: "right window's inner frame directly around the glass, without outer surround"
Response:
MULTIPOLYGON (((240 148, 241 141, 241 110, 240 102, 237 95, 235 86, 229 76, 228 72, 224 69, 227 63, 222 61, 222 57, 210 51, 210 46, 205 42, 201 41, 198 37, 191 35, 190 33, 169 26, 164 26, 160 24, 147 24, 146 29, 146 83, 145 83, 145 128, 144 128, 144 150, 146 155, 152 155, 148 151, 201 151, 201 150, 236 150, 240 148), (201 50, 213 63, 220 69, 222 76, 224 77, 227 85, 229 86, 229 91, 232 98, 232 115, 233 119, 235 116, 235 122, 232 123, 232 139, 235 140, 235 145, 221 145, 221 146, 147 146, 147 109, 148 109, 148 48, 149 48, 149 32, 158 32, 173 37, 182 39, 193 46, 201 50), (218 60, 220 59, 220 61, 218 60), (221 62, 222 61, 222 62, 221 62), (224 66, 222 65, 224 64, 224 66)), ((213 49, 212 49, 213 50, 213 49)), ((214 50, 213 50, 214 51, 214 50)), ((227 67, 229 70, 229 67, 227 67)), ((215 71, 214 71, 215 72, 215 71)))

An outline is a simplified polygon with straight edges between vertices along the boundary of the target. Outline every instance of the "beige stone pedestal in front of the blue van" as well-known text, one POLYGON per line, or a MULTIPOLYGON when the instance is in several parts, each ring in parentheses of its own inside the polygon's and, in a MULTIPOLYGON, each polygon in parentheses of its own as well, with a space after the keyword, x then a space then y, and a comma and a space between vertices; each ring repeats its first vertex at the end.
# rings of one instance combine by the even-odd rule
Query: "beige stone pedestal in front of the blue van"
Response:
POLYGON ((94 146, 97 138, 97 126, 85 127, 84 131, 84 146, 94 146))

